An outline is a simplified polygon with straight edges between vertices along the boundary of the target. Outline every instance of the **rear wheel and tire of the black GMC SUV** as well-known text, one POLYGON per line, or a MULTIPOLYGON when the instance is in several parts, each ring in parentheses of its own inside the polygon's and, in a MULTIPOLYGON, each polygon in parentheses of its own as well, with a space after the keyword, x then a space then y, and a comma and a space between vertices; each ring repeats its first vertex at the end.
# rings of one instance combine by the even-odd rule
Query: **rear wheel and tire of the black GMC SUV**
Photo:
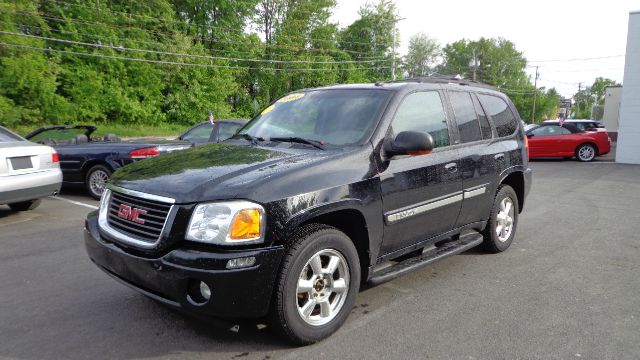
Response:
POLYGON ((509 248, 518 227, 518 213, 516 192, 509 185, 501 185, 493 200, 487 226, 482 232, 482 247, 486 251, 497 254, 509 248))

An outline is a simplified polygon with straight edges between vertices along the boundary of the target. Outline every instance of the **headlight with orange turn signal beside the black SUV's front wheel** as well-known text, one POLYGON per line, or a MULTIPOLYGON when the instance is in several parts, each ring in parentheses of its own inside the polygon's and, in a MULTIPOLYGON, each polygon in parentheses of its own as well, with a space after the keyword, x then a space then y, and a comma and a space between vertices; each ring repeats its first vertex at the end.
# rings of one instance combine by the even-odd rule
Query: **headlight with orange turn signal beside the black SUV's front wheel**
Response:
POLYGON ((249 201, 227 201, 196 206, 187 240, 208 244, 256 244, 264 241, 264 208, 249 201))

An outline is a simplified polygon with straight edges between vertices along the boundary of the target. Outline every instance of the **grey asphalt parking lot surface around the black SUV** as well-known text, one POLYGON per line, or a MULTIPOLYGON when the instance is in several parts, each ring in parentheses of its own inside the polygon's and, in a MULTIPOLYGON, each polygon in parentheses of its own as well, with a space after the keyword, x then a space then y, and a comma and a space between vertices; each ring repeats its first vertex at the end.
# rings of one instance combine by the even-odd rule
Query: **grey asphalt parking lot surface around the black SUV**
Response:
POLYGON ((81 233, 97 202, 81 191, 28 213, 0 206, 0 358, 637 359, 640 166, 531 167, 507 252, 362 291, 342 329, 304 348, 256 322, 186 317, 103 274, 81 233))

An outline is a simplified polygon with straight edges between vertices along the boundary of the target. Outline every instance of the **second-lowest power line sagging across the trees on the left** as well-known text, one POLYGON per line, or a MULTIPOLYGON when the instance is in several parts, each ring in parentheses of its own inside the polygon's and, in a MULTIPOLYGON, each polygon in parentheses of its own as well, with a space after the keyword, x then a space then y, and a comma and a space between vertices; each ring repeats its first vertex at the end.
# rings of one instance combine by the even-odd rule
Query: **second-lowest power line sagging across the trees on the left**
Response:
POLYGON ((185 53, 174 53, 167 51, 156 51, 156 50, 147 50, 147 49, 137 49, 137 48, 128 48, 123 46, 112 46, 112 45, 103 45, 103 44, 91 44, 81 41, 72 41, 72 40, 63 40, 56 39, 45 36, 37 36, 37 35, 27 35, 14 33, 9 31, 0 31, 0 34, 11 35, 11 36, 20 36, 31 39, 40 39, 46 41, 55 41, 61 42, 65 44, 71 45, 81 45, 81 46, 91 46, 102 49, 113 49, 118 51, 131 51, 131 52, 140 52, 146 54, 155 54, 155 55, 168 55, 168 56, 179 56, 179 57, 189 57, 189 58, 198 58, 198 59, 206 59, 206 60, 225 60, 231 62, 245 61, 245 62, 255 62, 255 63, 269 63, 269 64, 371 64, 378 61, 368 60, 368 61, 358 61, 358 60, 346 60, 346 61, 304 61, 304 60, 267 60, 267 59, 242 59, 242 58, 230 58, 223 56, 208 56, 208 55, 196 55, 196 54, 185 54, 185 53))

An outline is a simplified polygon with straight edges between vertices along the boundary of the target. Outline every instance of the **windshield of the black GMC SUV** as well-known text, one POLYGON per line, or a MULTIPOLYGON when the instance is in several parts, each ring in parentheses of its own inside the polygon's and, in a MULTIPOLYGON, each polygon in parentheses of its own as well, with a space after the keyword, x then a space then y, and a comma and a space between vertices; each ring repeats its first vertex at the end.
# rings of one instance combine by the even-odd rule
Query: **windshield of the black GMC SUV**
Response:
POLYGON ((256 138, 298 137, 331 145, 359 144, 373 131, 391 92, 316 90, 280 98, 239 134, 256 138))

